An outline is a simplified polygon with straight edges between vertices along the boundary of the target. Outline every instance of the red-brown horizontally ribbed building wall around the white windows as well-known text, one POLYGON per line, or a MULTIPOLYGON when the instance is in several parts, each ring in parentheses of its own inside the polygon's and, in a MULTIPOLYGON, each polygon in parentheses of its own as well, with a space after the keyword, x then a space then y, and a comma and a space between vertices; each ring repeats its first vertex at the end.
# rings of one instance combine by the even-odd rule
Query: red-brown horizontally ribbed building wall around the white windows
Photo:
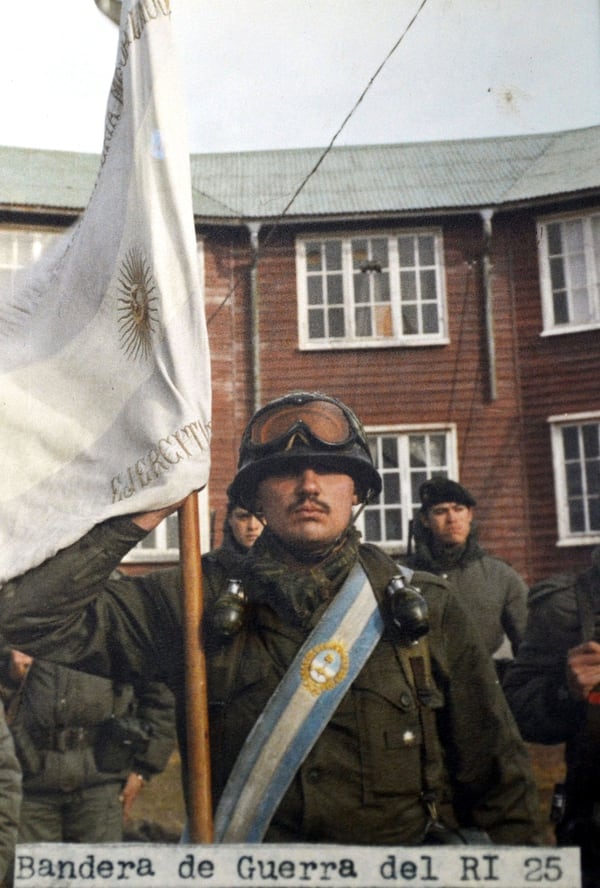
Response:
MULTIPOLYGON (((456 423, 460 480, 478 500, 482 543, 529 582, 585 567, 589 547, 556 546, 546 420, 556 413, 600 409, 597 334, 540 337, 535 214, 499 214, 492 222, 490 256, 497 394, 492 400, 482 221, 472 215, 425 219, 422 224, 443 230, 447 345, 301 352, 295 239, 310 229, 281 226, 269 234, 257 266, 261 403, 295 388, 320 389, 341 397, 365 425, 456 423)), ((386 229, 393 225, 386 220, 386 229)), ((313 230, 325 234, 337 229, 322 224, 313 230)), ((254 404, 252 251, 242 226, 206 228, 200 236, 212 363, 210 506, 218 544, 226 488, 254 404)))

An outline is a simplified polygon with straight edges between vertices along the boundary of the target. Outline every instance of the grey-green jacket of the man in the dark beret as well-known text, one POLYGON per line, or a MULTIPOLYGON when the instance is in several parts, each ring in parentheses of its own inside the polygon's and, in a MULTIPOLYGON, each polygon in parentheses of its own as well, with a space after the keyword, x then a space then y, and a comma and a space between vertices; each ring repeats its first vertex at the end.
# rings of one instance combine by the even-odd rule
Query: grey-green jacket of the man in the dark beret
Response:
POLYGON ((404 563, 448 580, 466 610, 475 616, 486 650, 496 653, 506 634, 514 655, 527 623, 527 585, 522 577, 479 545, 476 528, 464 546, 443 555, 436 553, 431 532, 417 518, 414 543, 415 552, 404 563))

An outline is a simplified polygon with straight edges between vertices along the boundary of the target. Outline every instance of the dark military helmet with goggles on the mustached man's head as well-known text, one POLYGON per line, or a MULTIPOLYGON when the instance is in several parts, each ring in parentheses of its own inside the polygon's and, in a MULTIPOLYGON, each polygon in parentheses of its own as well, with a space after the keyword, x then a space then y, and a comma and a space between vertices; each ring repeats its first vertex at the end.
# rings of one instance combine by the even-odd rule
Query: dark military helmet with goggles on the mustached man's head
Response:
POLYGON ((246 426, 229 496, 252 510, 263 478, 307 460, 350 475, 365 502, 381 492, 365 430, 353 411, 330 395, 297 391, 261 407, 246 426))

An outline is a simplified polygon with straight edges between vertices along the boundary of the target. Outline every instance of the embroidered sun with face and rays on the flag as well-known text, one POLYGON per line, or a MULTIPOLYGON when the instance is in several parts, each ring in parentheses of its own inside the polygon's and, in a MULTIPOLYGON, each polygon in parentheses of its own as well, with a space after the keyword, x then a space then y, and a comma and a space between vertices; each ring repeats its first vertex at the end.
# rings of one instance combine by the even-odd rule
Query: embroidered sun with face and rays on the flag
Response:
POLYGON ((134 361, 146 360, 159 326, 158 291, 150 264, 139 248, 129 250, 121 264, 118 291, 121 348, 134 361))

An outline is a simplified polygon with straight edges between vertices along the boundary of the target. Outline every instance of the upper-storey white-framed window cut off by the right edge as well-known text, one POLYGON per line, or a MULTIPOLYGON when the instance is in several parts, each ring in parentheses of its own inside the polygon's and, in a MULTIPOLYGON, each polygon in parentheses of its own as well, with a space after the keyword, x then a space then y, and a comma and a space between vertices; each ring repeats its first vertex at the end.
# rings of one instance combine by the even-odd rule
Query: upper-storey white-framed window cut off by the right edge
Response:
POLYGON ((600 210, 541 219, 542 335, 600 327, 600 210))

